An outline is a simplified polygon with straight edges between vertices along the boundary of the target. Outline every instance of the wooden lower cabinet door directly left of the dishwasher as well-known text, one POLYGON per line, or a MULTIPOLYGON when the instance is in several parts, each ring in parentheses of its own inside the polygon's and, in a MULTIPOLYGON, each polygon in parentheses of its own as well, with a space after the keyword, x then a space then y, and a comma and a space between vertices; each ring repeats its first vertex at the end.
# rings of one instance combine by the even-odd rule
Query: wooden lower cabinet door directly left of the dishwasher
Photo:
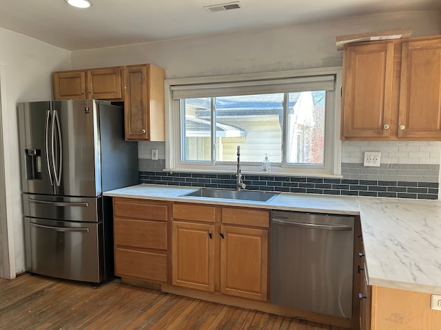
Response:
POLYGON ((268 230, 221 226, 220 292, 267 300, 268 230))

